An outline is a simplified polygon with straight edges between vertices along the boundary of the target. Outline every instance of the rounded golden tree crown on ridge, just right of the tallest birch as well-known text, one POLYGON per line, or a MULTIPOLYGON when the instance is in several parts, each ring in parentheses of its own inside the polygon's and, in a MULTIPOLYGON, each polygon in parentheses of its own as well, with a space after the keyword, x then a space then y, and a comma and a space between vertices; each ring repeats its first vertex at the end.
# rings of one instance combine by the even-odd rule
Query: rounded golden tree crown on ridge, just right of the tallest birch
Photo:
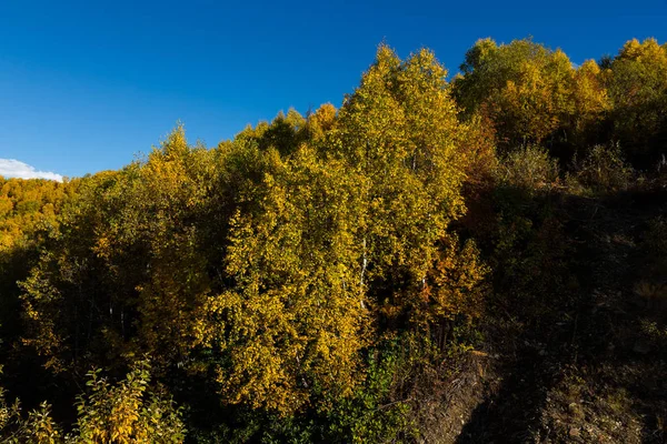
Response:
POLYGON ((570 114, 575 73, 567 56, 529 39, 496 44, 478 41, 466 53, 455 95, 467 114, 494 122, 504 148, 539 143, 570 114))

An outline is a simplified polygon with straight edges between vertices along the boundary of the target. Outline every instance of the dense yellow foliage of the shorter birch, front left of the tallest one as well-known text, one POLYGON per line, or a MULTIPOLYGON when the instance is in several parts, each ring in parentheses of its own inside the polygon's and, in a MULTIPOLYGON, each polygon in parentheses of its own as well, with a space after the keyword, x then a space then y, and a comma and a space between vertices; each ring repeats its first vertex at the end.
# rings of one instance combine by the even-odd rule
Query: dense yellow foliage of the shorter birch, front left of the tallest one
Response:
POLYGON ((266 154, 261 208, 232 220, 227 272, 236 289, 209 302, 205 342, 229 353, 228 402, 289 413, 310 389, 349 393, 367 324, 354 244, 354 182, 308 147, 266 154), (211 337, 212 336, 212 337, 211 337))

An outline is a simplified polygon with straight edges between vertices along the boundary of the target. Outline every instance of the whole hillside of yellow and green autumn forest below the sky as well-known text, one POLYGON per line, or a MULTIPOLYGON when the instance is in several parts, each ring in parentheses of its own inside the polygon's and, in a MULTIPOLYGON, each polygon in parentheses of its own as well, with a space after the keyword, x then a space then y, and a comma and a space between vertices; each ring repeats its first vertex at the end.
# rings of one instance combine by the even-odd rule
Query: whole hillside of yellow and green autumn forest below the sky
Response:
POLYGON ((664 442, 667 44, 590 56, 0 178, 0 442, 664 442))

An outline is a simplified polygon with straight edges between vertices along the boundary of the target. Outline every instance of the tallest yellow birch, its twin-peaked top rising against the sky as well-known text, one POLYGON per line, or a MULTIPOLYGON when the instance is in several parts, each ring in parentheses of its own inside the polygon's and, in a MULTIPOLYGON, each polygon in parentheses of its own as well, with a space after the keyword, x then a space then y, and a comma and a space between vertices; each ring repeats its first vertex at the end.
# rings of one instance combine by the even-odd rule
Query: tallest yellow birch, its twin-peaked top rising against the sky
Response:
POLYGON ((446 74, 428 50, 401 61, 381 46, 331 137, 331 152, 359 178, 360 281, 392 324, 421 316, 425 302, 416 295, 441 259, 449 223, 465 212, 461 185, 476 153, 446 74))

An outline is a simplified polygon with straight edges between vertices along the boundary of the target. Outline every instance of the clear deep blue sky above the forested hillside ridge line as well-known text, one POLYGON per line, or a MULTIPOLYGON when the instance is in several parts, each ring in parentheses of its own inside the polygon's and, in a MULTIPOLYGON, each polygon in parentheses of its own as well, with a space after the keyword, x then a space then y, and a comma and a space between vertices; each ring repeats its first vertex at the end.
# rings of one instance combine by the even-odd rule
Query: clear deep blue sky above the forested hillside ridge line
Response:
POLYGON ((179 119, 215 145, 279 110, 339 105, 382 40, 454 73, 477 39, 527 36, 576 63, 665 42, 667 0, 0 0, 0 159, 118 169, 179 119))

